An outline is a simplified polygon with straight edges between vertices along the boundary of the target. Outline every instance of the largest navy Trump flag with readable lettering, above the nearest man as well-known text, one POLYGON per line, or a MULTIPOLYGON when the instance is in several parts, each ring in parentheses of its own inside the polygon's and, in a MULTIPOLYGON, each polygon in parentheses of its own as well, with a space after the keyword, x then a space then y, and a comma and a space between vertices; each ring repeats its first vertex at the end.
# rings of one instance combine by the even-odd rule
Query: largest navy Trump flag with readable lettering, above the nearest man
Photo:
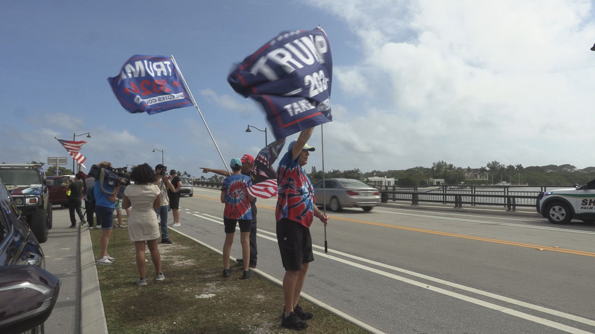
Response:
POLYGON ((283 31, 228 76, 233 89, 262 105, 275 138, 332 121, 333 59, 327 34, 283 31))

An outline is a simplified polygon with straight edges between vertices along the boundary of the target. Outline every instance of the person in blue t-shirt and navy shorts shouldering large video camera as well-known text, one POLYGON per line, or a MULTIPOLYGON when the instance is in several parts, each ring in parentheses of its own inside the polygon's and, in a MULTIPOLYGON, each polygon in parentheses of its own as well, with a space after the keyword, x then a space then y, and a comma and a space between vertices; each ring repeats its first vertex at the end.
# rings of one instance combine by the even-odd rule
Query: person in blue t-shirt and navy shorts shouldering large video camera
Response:
MULTIPOLYGON (((112 167, 111 163, 107 161, 98 163, 98 166, 102 165, 107 168, 112 167)), ((108 242, 112 228, 114 228, 114 203, 118 200, 117 194, 120 191, 120 187, 120 182, 116 182, 115 188, 111 187, 107 179, 104 179, 103 184, 101 184, 99 178, 95 180, 95 185, 93 186, 97 226, 101 226, 102 229, 97 264, 112 264, 115 260, 108 254, 108 242)))

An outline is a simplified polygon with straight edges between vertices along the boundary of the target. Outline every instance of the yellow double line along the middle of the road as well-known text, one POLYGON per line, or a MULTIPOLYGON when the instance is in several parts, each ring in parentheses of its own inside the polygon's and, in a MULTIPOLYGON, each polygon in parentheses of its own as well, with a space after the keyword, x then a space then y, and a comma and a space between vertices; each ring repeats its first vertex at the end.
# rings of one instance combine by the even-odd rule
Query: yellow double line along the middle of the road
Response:
MULTIPOLYGON (((214 197, 207 197, 207 196, 200 196, 195 195, 195 197, 202 197, 208 200, 216 200, 220 201, 220 198, 214 197)), ((258 205, 257 207, 262 207, 262 209, 271 209, 274 210, 274 207, 270 206, 261 206, 258 205)), ((440 231, 433 231, 431 229, 421 229, 421 228, 412 228, 408 226, 399 226, 399 225, 391 225, 385 223, 375 223, 375 222, 367 222, 365 220, 358 220, 358 219, 350 219, 350 218, 342 218, 331 216, 332 219, 337 220, 345 220, 346 222, 353 222, 353 223, 362 223, 367 225, 375 225, 375 226, 383 226, 388 228, 396 228, 396 229, 404 229, 406 231, 414 231, 414 232, 422 232, 422 233, 429 233, 429 234, 436 234, 436 235, 443 235, 444 237, 453 237, 453 238, 463 238, 475 241, 486 241, 486 242, 494 242, 496 244, 503 244, 503 245, 511 245, 511 246, 518 246, 518 247, 526 247, 526 248, 533 248, 536 250, 548 250, 548 251, 557 251, 559 253, 567 253, 567 254, 575 254, 575 255, 583 255, 583 256, 591 256, 595 257, 595 253, 589 251, 580 251, 580 250, 569 250, 566 248, 558 248, 552 246, 542 246, 542 245, 534 245, 534 244, 525 244, 523 242, 515 242, 515 241, 506 241, 506 240, 499 240, 499 239, 491 239, 491 238, 482 238, 482 237, 474 237, 472 235, 464 235, 464 234, 456 234, 456 233, 449 233, 449 232, 440 232, 440 231)))

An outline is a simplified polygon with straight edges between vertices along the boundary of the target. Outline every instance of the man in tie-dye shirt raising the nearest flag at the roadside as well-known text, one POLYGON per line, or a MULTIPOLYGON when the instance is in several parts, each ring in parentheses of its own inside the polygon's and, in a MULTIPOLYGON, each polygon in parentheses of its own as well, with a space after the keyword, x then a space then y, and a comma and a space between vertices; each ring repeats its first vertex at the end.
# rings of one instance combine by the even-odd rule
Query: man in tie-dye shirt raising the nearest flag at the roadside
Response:
POLYGON ((324 226, 328 216, 314 205, 314 188, 303 171, 314 147, 306 144, 314 128, 303 130, 297 140, 289 144, 288 152, 277 167, 278 197, 275 218, 277 220, 277 243, 285 268, 283 295, 285 308, 281 326, 304 329, 308 324, 302 320, 312 319, 312 313, 302 310, 297 304, 302 292, 308 264, 314 261, 310 225, 314 217, 324 226))

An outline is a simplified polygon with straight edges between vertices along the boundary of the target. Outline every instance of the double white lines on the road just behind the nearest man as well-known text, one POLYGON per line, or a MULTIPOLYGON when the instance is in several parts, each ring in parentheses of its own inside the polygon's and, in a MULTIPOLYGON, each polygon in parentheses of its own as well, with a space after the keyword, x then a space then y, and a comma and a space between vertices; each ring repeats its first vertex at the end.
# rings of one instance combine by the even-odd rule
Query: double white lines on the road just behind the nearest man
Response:
MULTIPOLYGON (((219 218, 217 216, 208 215, 206 213, 203 213, 203 216, 201 216, 201 215, 195 215, 195 216, 197 216, 199 218, 202 218, 202 219, 209 220, 211 222, 218 223, 220 225, 224 225, 223 224, 223 221, 220 221, 221 218, 219 218), (209 218, 209 217, 212 217, 212 218, 215 218, 215 219, 212 219, 212 218, 209 218)), ((236 227, 236 229, 239 231, 239 227, 236 227)), ((258 231, 259 232, 264 232, 266 234, 274 235, 276 237, 276 234, 274 234, 273 232, 265 231, 265 230, 262 230, 262 229, 258 229, 258 231)), ((257 234, 257 235, 259 237, 261 237, 261 238, 265 238, 267 240, 271 240, 271 241, 277 242, 277 238, 268 237, 268 235, 263 235, 263 234, 257 234)), ((321 247, 319 245, 312 244, 312 246, 314 248, 318 248, 318 249, 324 250, 324 247, 321 247)), ((547 313, 547 314, 552 314, 553 316, 563 317, 565 319, 573 320, 575 322, 580 322, 580 323, 588 324, 590 326, 595 326, 595 320, 591 320, 591 319, 587 319, 587 318, 575 316, 574 314, 569 314, 569 313, 565 313, 565 312, 562 312, 562 311, 556 311, 556 310, 553 310, 551 308, 546 308, 546 307, 542 307, 542 306, 539 306, 539 305, 525 303, 523 301, 515 300, 513 298, 504 297, 504 296, 501 296, 501 295, 493 294, 493 293, 487 292, 487 291, 482 291, 480 289, 471 288, 469 286, 461 285, 461 284, 458 284, 458 283, 452 283, 452 282, 449 282, 449 281, 444 281, 442 279, 433 278, 432 276, 427 276, 427 275, 424 275, 424 274, 421 274, 421 273, 412 272, 411 270, 406 270, 406 269, 402 269, 402 268, 399 268, 399 267, 390 266, 388 264, 379 263, 377 261, 368 260, 368 259, 365 259, 365 258, 362 258, 362 257, 358 257, 358 256, 352 256, 351 254, 343 253, 341 251, 335 251, 335 250, 331 250, 331 249, 328 249, 328 251, 331 252, 331 253, 336 253, 336 254, 340 254, 342 256, 350 257, 350 258, 355 259, 355 260, 364 261, 364 262, 367 262, 367 263, 370 263, 370 264, 374 264, 374 265, 377 265, 377 266, 381 266, 381 267, 386 267, 387 269, 392 269, 392 270, 395 270, 397 272, 406 273, 408 275, 415 276, 415 277, 422 278, 422 279, 426 279, 428 281, 433 281, 433 282, 437 282, 437 283, 440 283, 440 284, 443 284, 443 285, 452 286, 453 288, 458 288, 458 289, 462 289, 464 291, 472 292, 472 293, 475 293, 475 294, 484 295, 486 297, 490 297, 490 298, 493 298, 493 299, 496 299, 496 300, 504 301, 506 303, 519 305, 519 306, 522 306, 522 307, 525 307, 525 308, 530 308, 532 310, 541 311, 541 312, 547 313)), ((318 255, 320 255, 322 257, 325 257, 325 255, 327 255, 327 254, 322 253, 320 251, 314 251, 314 253, 316 253, 316 254, 318 254, 318 255)), ((405 278, 403 276, 394 275, 393 273, 384 272, 383 270, 378 270, 378 269, 375 269, 375 268, 372 268, 372 267, 368 267, 368 266, 365 266, 363 264, 359 264, 359 263, 355 263, 353 261, 342 259, 340 257, 330 256, 330 258, 332 260, 334 260, 334 261, 345 263, 345 264, 348 264, 350 266, 357 267, 359 269, 367 270, 368 272, 377 273, 378 275, 385 276, 387 278, 392 278, 392 279, 395 279, 397 281, 401 281, 401 282, 404 282, 404 283, 409 283, 411 285, 415 285, 415 286, 418 286, 420 288, 429 289, 430 291, 438 292, 438 293, 443 294, 443 295, 448 295, 450 297, 457 298, 459 300, 466 301, 468 303, 480 305, 480 306, 483 306, 483 307, 486 307, 486 308, 490 308, 492 310, 496 310, 496 311, 500 311, 502 313, 509 314, 511 316, 519 317, 521 319, 529 320, 531 322, 536 322, 536 323, 540 323, 540 324, 543 324, 545 326, 549 326, 549 327, 552 327, 552 328, 555 328, 555 329, 563 330, 564 332, 575 333, 575 334, 588 334, 588 333, 591 333, 591 332, 587 332, 585 330, 581 330, 581 329, 578 329, 578 328, 575 328, 575 327, 567 326, 567 325, 562 324, 562 323, 553 322, 552 320, 549 320, 549 319, 545 319, 545 318, 533 316, 531 314, 524 313, 524 312, 521 312, 521 311, 516 311, 516 310, 513 310, 513 309, 508 308, 508 307, 503 307, 502 305, 497 305, 497 304, 489 303, 487 301, 478 300, 477 298, 473 298, 473 297, 469 297, 467 295, 459 294, 458 292, 449 291, 449 290, 446 290, 446 289, 443 289, 443 288, 439 288, 437 286, 428 285, 427 283, 418 282, 418 281, 415 281, 413 279, 405 278)))

